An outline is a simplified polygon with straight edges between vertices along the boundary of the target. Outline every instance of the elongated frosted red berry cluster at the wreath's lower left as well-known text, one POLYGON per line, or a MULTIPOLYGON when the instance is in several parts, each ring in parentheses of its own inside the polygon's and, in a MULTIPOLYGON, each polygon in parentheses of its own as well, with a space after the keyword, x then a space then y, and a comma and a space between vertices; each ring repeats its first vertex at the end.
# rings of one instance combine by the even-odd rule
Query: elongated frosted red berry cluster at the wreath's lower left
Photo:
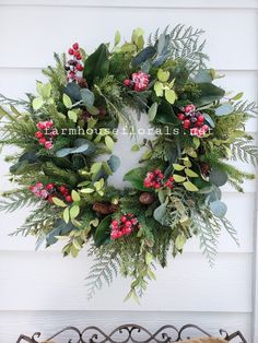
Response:
POLYGON ((30 190, 36 197, 47 200, 50 203, 52 203, 52 198, 59 198, 67 202, 72 202, 71 193, 66 186, 57 187, 54 184, 47 184, 44 186, 43 182, 37 182, 31 186, 30 190))

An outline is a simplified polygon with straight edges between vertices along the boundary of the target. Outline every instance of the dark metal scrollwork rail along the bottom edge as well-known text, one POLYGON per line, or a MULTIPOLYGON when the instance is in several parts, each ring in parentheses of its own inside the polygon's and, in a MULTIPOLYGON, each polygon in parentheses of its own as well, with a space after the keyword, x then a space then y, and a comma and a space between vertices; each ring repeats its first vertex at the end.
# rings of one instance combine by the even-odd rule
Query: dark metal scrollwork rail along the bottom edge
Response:
MULTIPOLYGON (((64 328, 42 343, 58 343, 58 341, 55 340, 60 339, 63 334, 66 334, 66 336, 73 336, 69 338, 68 341, 66 341, 67 343, 175 343, 189 340, 191 336, 197 335, 211 336, 203 329, 195 324, 186 324, 179 330, 174 326, 167 324, 160 328, 154 333, 138 324, 125 324, 116 328, 109 334, 97 327, 91 326, 82 331, 75 327, 64 328)), ((242 341, 237 343, 247 343, 239 331, 228 334, 225 330, 220 330, 220 334, 227 342, 233 342, 234 339, 238 338, 242 341)), ((34 333, 32 338, 22 334, 16 343, 39 343, 39 332, 34 333)))

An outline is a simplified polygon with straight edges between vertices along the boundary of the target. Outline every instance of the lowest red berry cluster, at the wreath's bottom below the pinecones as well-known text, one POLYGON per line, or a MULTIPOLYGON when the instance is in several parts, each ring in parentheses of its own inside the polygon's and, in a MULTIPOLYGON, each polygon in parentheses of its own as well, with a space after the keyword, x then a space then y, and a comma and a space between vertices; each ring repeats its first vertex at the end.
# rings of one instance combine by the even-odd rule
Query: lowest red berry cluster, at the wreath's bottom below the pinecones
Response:
POLYGON ((127 213, 122 215, 119 221, 114 220, 112 222, 112 239, 118 239, 122 236, 130 235, 134 229, 140 228, 138 218, 132 213, 127 213))

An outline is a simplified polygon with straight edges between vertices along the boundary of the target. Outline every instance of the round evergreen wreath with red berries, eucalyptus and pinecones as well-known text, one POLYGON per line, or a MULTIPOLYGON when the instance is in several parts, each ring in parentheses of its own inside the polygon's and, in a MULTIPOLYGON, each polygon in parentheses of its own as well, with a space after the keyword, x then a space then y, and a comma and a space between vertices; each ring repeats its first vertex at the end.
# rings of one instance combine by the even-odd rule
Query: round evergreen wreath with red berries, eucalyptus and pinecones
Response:
POLYGON ((132 279, 127 298, 138 299, 155 263, 165 267, 192 236, 211 263, 222 228, 237 241, 221 187, 242 192, 254 178, 231 161, 258 162, 245 132, 256 106, 213 83, 221 75, 206 67, 201 34, 177 25, 144 45, 141 28, 122 44, 117 32, 91 55, 74 43, 43 71, 48 82, 37 82, 36 95, 1 95, 1 144, 19 147, 7 157, 17 188, 2 194, 1 210, 35 205, 15 234, 37 245, 62 240, 73 257, 86 245, 90 297, 120 272, 132 279), (153 139, 137 132, 141 116, 153 139), (108 181, 120 164, 112 154, 119 125, 137 140, 131 150, 142 150, 124 189, 108 181))

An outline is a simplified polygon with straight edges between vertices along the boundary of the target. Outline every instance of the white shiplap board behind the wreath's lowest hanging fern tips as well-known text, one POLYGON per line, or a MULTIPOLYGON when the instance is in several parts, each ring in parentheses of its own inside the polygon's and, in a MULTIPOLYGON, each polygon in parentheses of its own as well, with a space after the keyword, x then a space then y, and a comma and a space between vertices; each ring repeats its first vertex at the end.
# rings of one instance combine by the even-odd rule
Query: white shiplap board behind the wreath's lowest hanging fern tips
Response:
POLYGON ((141 306, 122 303, 128 281, 120 277, 87 301, 90 262, 83 255, 1 252, 0 310, 251 311, 250 253, 220 253, 213 269, 199 253, 177 257, 169 269, 157 268, 141 306))

